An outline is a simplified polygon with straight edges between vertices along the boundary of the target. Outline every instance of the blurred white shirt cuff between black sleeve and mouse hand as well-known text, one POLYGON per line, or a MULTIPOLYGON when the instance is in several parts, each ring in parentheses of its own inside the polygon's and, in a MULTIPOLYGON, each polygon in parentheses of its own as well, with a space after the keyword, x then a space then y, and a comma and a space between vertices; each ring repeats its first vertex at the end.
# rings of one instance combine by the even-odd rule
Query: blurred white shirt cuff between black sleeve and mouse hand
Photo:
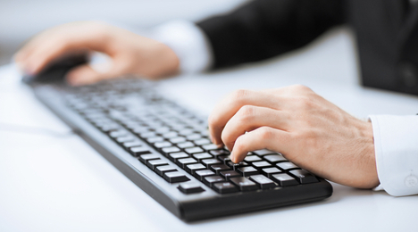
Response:
POLYGON ((180 71, 196 73, 210 68, 212 48, 204 32, 190 21, 170 21, 157 26, 152 36, 170 46, 180 60, 180 71))

